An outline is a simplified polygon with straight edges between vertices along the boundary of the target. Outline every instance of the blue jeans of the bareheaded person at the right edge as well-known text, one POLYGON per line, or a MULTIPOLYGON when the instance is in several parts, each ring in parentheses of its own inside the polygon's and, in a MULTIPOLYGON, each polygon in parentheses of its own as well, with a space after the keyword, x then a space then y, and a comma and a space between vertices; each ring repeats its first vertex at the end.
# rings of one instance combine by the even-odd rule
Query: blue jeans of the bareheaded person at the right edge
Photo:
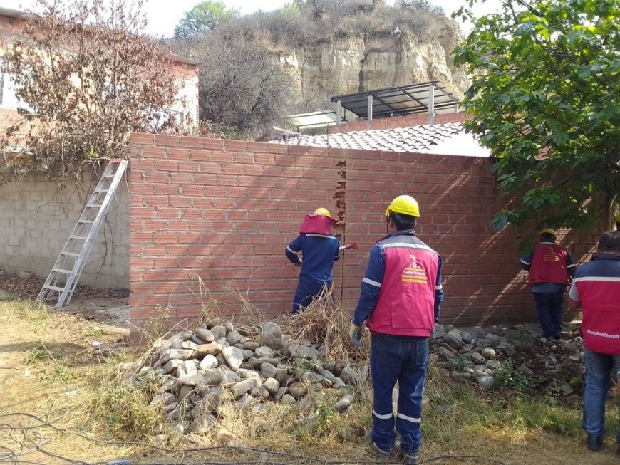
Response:
MULTIPOLYGON (((586 387, 582 427, 590 436, 605 434, 605 402, 609 394, 609 378, 620 370, 620 355, 601 354, 584 348, 586 356, 586 387)), ((620 430, 616 434, 620 443, 620 430)))

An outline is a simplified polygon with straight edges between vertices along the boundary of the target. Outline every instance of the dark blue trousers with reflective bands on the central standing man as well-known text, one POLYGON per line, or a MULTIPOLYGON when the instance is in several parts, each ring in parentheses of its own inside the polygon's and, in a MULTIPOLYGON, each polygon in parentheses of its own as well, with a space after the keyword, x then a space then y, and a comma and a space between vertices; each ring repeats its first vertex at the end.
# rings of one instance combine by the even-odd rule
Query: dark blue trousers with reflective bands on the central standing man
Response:
POLYGON ((392 391, 398 380, 396 430, 406 454, 418 454, 422 444, 422 394, 428 365, 428 339, 373 333, 373 442, 383 451, 396 441, 392 391))

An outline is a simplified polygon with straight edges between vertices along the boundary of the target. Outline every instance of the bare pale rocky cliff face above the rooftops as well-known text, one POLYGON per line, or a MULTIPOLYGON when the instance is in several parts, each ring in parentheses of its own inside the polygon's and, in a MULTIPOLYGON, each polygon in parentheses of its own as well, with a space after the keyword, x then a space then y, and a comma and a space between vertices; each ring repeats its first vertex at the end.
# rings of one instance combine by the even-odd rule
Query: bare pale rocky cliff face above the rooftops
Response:
POLYGON ((457 24, 446 19, 423 39, 398 29, 367 38, 331 38, 280 51, 279 60, 306 100, 429 80, 440 80, 460 97, 469 80, 450 56, 460 40, 457 24))

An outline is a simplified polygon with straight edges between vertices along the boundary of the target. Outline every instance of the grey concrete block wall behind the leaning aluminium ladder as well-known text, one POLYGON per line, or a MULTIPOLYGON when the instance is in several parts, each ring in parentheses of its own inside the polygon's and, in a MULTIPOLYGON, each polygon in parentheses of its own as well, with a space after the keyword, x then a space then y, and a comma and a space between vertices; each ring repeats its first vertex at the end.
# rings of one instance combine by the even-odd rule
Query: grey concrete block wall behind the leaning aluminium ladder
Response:
MULTIPOLYGON (((51 181, 43 174, 29 174, 0 185, 0 268, 9 273, 48 275, 100 171, 83 174, 80 182, 51 181)), ((128 184, 123 180, 79 283, 129 287, 129 204, 128 184)))

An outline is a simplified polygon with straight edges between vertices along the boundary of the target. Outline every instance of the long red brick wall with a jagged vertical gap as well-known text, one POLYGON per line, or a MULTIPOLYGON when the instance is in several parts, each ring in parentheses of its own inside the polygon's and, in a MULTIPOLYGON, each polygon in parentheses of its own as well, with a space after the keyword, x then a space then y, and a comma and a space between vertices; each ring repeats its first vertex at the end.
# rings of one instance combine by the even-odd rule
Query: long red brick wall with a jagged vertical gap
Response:
MULTIPOLYGON (((443 256, 443 323, 534 320, 514 232, 490 228, 502 208, 492 160, 139 134, 132 142, 136 327, 157 306, 173 320, 195 317, 199 276, 224 311, 239 308, 225 288, 264 311, 289 311, 299 268, 284 249, 316 207, 338 214, 343 243, 360 245, 334 268, 334 292, 352 309, 368 250, 385 232, 383 211, 403 193, 420 203, 420 238, 443 256)), ((563 243, 579 258, 596 239, 563 243)))

